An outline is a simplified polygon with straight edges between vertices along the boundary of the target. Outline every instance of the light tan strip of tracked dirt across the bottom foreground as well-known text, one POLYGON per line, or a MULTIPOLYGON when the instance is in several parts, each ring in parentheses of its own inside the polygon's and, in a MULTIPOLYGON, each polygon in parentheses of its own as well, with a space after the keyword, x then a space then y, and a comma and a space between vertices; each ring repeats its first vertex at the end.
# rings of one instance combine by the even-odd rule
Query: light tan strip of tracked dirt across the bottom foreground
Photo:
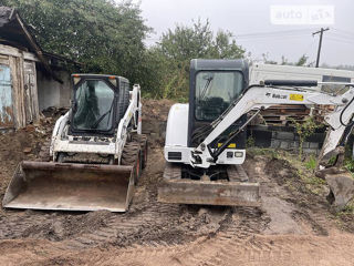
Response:
POLYGON ((204 236, 180 245, 132 246, 118 250, 110 247, 100 252, 84 249, 69 254, 66 259, 77 263, 77 257, 81 257, 90 265, 134 266, 353 265, 353 236, 335 232, 331 236, 254 234, 240 239, 230 236, 229 232, 219 232, 215 237, 204 236))

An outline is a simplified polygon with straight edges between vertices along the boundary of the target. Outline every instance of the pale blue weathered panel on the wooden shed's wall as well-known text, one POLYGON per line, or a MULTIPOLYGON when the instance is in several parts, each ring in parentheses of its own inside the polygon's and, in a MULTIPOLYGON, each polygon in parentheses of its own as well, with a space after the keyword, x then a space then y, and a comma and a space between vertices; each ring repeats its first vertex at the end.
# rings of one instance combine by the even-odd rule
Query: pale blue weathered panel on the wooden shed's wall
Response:
POLYGON ((0 129, 13 127, 10 68, 0 64, 0 129))

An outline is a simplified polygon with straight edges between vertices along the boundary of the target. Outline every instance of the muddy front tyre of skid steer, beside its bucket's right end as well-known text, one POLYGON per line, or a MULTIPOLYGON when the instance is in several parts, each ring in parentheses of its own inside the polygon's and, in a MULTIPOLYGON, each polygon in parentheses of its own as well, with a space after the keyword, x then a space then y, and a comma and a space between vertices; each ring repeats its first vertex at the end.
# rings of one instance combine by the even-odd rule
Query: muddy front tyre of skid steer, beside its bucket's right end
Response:
POLYGON ((140 145, 136 142, 127 142, 123 149, 121 165, 131 165, 134 167, 134 182, 137 181, 142 174, 140 145))

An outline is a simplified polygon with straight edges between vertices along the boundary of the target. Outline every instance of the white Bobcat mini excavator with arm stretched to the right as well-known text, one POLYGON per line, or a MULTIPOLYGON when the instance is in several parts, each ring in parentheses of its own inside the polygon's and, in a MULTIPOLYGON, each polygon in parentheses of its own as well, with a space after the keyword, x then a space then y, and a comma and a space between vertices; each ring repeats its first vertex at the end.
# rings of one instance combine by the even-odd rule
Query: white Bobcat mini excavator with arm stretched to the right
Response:
POLYGON ((311 90, 316 81, 264 81, 248 86, 243 60, 192 60, 189 103, 173 105, 168 114, 167 164, 158 201, 260 206, 260 185, 241 166, 247 124, 273 105, 334 106, 324 114, 329 130, 319 158, 323 164, 339 155, 354 125, 354 88, 341 84, 347 86, 342 95, 311 90), (256 113, 248 119, 250 111, 256 113))

